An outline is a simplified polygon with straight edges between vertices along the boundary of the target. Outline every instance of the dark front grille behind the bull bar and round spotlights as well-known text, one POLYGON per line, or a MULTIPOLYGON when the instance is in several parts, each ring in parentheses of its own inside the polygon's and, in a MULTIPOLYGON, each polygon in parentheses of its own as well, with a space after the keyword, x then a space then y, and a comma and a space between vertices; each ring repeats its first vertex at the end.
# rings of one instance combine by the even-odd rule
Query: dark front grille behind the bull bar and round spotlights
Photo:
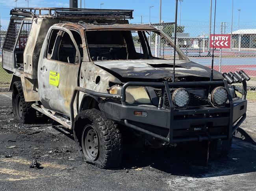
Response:
MULTIPOLYGON (((208 103, 208 94, 206 93, 206 89, 202 88, 186 88, 187 91, 190 94, 190 100, 188 107, 200 107, 200 106, 209 106, 210 104, 208 103)), ((157 97, 160 98, 162 97, 162 91, 161 90, 154 90, 157 97)), ((165 93, 165 98, 164 98, 164 104, 165 106, 169 107, 169 102, 167 98, 167 94, 165 93)))

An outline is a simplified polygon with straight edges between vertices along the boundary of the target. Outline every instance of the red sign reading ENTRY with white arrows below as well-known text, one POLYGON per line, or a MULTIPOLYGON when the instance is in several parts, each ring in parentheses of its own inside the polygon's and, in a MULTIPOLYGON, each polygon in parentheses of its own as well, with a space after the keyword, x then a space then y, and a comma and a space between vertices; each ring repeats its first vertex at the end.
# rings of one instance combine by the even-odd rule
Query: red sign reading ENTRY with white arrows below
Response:
POLYGON ((210 35, 210 48, 230 48, 230 35, 210 35))

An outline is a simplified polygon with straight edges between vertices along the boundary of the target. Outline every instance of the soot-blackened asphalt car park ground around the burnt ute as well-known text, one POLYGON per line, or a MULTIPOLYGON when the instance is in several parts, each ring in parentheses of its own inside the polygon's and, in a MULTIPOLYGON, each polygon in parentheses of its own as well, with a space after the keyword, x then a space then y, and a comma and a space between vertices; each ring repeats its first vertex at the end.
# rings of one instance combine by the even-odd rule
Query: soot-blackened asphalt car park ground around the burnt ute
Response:
POLYGON ((206 150, 187 146, 127 148, 122 166, 106 170, 83 162, 62 126, 15 122, 11 93, 0 93, 0 190, 256 190, 255 106, 241 126, 245 140, 234 138, 227 157, 206 164, 206 150), (29 167, 33 158, 39 169, 29 167))

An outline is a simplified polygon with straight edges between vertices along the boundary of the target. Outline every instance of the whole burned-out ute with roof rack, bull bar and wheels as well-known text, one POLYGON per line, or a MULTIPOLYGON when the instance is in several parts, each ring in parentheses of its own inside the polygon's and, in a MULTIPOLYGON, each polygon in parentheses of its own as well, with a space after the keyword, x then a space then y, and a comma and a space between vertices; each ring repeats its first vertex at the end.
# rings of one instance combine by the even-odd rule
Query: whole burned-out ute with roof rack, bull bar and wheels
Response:
POLYGON ((119 166, 132 143, 228 153, 246 117, 243 71, 191 62, 157 27, 129 24, 132 10, 26 9, 11 10, 2 50, 18 121, 44 114, 73 129, 79 154, 102 168, 119 166))

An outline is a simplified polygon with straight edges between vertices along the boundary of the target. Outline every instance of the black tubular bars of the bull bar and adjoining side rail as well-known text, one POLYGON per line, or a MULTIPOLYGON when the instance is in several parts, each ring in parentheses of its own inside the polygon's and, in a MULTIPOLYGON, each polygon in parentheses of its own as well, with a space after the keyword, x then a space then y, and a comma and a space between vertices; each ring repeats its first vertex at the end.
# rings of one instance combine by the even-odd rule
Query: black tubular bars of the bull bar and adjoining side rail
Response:
MULTIPOLYGON (((96 97, 102 97, 102 98, 111 98, 115 100, 121 101, 121 106, 126 106, 126 88, 129 86, 149 86, 154 88, 163 88, 165 92, 167 93, 168 102, 170 105, 170 114, 169 114, 169 120, 168 120, 168 126, 169 126, 169 133, 167 137, 158 135, 157 133, 153 133, 152 131, 148 131, 144 128, 138 127, 134 124, 131 124, 128 122, 127 119, 124 119, 123 122, 125 126, 130 127, 132 129, 135 129, 137 131, 140 131, 142 133, 145 133, 147 135, 153 136, 155 138, 158 138, 160 140, 163 140, 164 142, 167 142, 167 144, 171 144, 174 142, 187 142, 187 141, 202 141, 202 140, 213 140, 213 139, 230 139, 232 138, 232 135, 235 133, 236 129, 241 125, 241 123, 246 118, 246 113, 242 115, 242 117, 237 121, 235 125, 233 125, 233 100, 230 96, 230 90, 228 87, 228 84, 226 80, 220 80, 220 81, 207 81, 207 82, 127 82, 122 86, 121 94, 108 94, 108 93, 99 93, 96 91, 92 91, 89 89, 85 89, 82 87, 76 87, 73 91, 73 95, 70 101, 70 121, 71 121, 71 127, 73 126, 74 121, 74 101, 76 96, 78 95, 78 92, 83 92, 86 94, 89 94, 91 96, 96 97), (174 124, 174 105, 173 100, 171 98, 171 92, 170 87, 193 87, 193 86, 209 86, 209 85, 222 85, 225 87, 225 89, 228 91, 228 100, 229 100, 229 108, 225 107, 225 109, 229 110, 229 123, 228 123, 228 131, 226 135, 209 135, 206 131, 204 132, 204 136, 196 136, 196 137, 187 137, 187 138, 173 138, 173 124, 174 124)), ((243 100, 246 99, 246 96, 243 96, 243 100)), ((213 108, 215 109, 215 108, 213 108)), ((74 128, 74 127, 73 127, 74 128)))

